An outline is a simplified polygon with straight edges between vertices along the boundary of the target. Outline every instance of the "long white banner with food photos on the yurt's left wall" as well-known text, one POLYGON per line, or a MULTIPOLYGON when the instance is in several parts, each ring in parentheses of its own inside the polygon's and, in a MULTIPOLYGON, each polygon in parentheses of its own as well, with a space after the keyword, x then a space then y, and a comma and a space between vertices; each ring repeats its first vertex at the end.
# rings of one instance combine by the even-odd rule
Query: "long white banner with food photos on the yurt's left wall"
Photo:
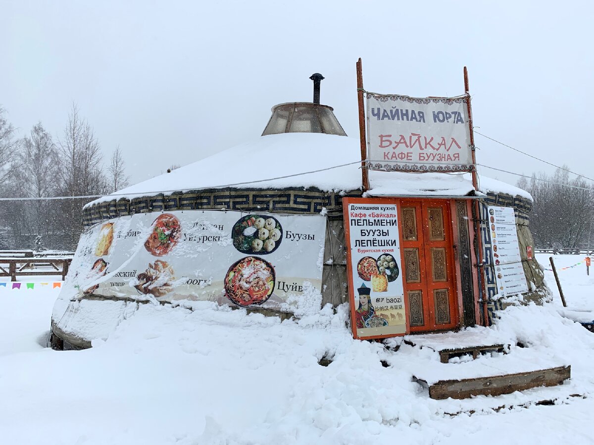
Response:
POLYGON ((78 298, 207 300, 290 310, 321 290, 326 218, 192 210, 134 214, 86 230, 67 285, 78 298))

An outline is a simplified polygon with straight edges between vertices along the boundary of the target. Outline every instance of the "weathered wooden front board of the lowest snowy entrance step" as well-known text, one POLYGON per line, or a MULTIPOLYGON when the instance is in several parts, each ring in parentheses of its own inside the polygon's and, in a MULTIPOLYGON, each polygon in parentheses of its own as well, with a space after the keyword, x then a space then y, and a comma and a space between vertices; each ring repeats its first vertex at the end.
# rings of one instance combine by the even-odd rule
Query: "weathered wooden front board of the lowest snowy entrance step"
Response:
POLYGON ((440 380, 429 385, 432 399, 466 399, 470 396, 499 396, 537 386, 556 386, 571 377, 571 366, 475 379, 440 380))

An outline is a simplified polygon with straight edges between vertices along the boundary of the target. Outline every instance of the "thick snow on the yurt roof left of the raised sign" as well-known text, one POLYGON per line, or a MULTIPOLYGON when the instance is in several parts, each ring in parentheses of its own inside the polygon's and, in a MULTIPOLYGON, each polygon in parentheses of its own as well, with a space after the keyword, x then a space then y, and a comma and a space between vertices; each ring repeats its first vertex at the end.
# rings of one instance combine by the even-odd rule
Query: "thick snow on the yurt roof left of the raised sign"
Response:
MULTIPOLYGON (((361 187, 361 164, 357 163, 361 161, 359 147, 359 139, 346 136, 319 133, 261 136, 254 141, 229 148, 171 173, 119 190, 117 193, 133 198, 165 191, 225 186, 356 190, 361 187), (354 164, 331 168, 349 163, 354 164), (323 171, 301 174, 313 170, 323 171), (197 171, 200 171, 200 174, 197 174, 197 171)), ((109 199, 112 198, 108 195, 87 206, 109 199)))

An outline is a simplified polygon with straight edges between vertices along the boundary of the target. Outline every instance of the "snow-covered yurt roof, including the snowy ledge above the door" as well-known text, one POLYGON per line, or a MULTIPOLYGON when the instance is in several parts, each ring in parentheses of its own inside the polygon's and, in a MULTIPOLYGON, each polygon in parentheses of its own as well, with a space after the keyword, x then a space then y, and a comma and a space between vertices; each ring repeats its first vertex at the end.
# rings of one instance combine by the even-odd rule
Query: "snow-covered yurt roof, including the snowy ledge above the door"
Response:
MULTIPOLYGON (((451 196, 505 193, 531 199, 525 190, 485 176, 479 190, 469 173, 370 171, 365 196, 451 196)), ((161 174, 87 204, 201 189, 315 188, 352 192, 362 188, 359 138, 321 133, 260 136, 187 166, 161 174)))

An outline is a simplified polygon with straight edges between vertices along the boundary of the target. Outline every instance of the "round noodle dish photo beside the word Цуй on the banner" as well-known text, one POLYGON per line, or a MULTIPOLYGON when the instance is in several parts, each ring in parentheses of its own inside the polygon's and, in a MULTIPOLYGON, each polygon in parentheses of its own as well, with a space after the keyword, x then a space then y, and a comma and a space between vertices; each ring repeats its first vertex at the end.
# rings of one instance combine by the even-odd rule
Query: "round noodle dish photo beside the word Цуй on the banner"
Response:
POLYGON ((257 256, 233 263, 225 275, 225 295, 239 306, 262 304, 274 291, 274 267, 257 256))

